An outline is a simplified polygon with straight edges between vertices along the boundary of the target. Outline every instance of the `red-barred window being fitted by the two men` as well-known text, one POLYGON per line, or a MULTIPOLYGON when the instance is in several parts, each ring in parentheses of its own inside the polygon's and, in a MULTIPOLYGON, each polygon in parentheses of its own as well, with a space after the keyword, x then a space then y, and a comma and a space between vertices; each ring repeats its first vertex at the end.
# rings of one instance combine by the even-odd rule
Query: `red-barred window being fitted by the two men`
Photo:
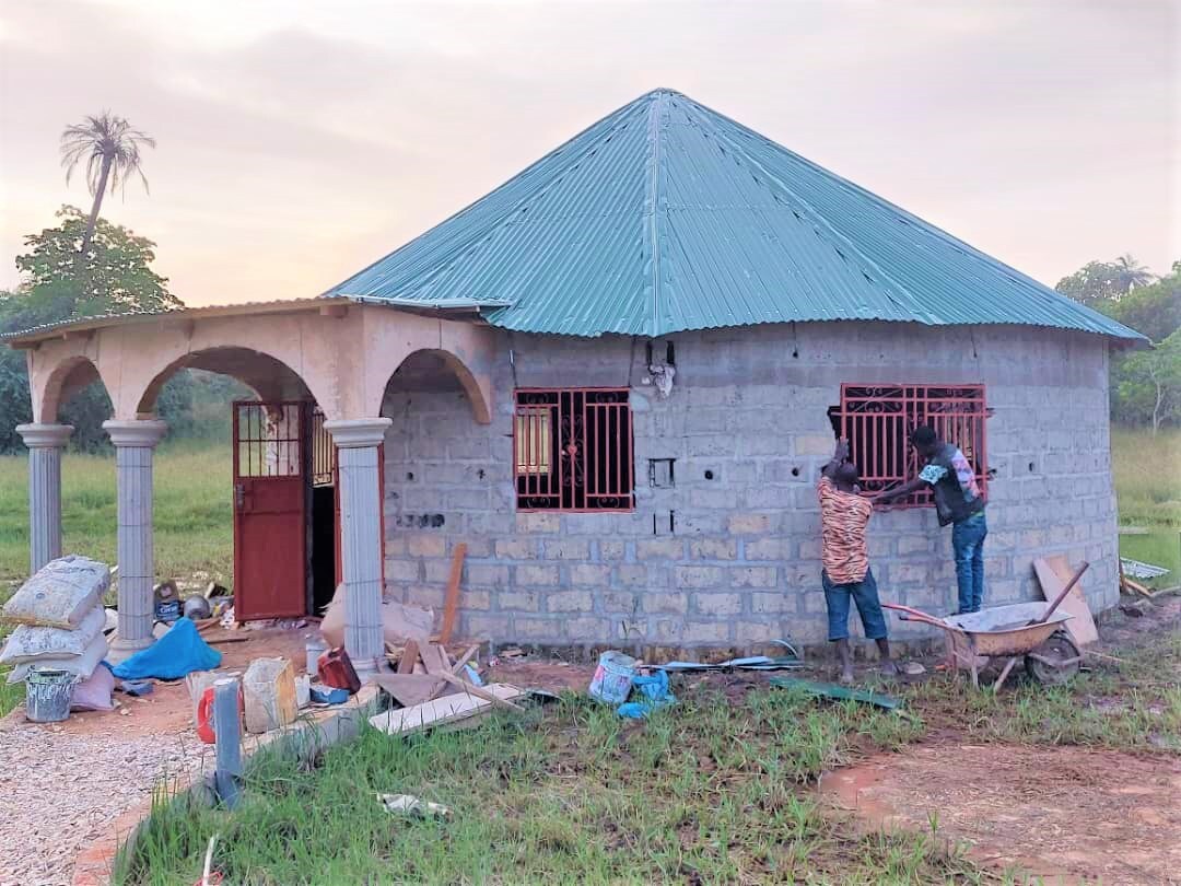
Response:
MULTIPOLYGON (((837 436, 849 441, 849 457, 861 470, 861 489, 879 493, 913 477, 920 470, 911 445, 911 432, 921 425, 934 428, 940 439, 960 448, 985 493, 984 385, 841 385, 841 405, 833 415, 837 436)), ((932 504, 931 491, 921 489, 895 504, 932 504)))

